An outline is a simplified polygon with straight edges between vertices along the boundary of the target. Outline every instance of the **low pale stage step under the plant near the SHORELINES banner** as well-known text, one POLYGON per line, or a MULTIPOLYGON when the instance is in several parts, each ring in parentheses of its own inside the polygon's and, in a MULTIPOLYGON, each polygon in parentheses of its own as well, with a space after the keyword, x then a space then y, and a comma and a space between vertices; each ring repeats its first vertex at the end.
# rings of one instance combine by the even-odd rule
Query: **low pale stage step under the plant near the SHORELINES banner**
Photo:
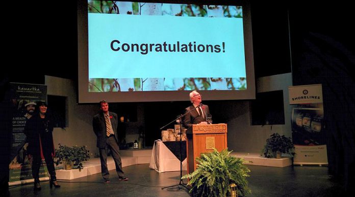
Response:
POLYGON ((232 156, 238 158, 244 158, 246 161, 251 161, 245 163, 247 165, 262 165, 262 166, 271 166, 271 167, 286 167, 292 165, 290 157, 282 157, 281 159, 275 158, 265 158, 258 153, 238 153, 232 152, 232 156))

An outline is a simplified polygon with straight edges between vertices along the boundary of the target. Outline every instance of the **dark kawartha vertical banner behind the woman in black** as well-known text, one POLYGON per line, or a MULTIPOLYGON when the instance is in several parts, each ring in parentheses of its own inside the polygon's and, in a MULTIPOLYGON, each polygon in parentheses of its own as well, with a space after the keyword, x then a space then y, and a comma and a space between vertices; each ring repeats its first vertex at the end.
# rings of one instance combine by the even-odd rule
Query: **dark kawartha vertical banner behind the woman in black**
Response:
MULTIPOLYGON (((47 100, 47 86, 27 83, 10 83, 12 103, 12 136, 9 182, 33 179, 31 163, 27 155, 24 126, 34 113, 38 101, 47 100)), ((46 168, 40 168, 40 177, 47 176, 46 168)))

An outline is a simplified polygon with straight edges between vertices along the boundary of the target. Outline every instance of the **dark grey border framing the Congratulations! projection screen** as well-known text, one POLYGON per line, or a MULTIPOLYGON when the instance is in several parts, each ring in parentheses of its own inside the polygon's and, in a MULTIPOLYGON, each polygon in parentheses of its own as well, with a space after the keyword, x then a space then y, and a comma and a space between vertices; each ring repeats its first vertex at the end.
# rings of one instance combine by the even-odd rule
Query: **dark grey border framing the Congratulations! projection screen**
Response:
MULTIPOLYGON (((137 1, 136 1, 137 2, 137 1)), ((161 2, 165 3, 165 2, 161 2)), ((170 3, 170 2, 166 2, 170 3)), ((182 3, 182 2, 179 2, 182 3)), ((187 2, 191 3, 191 1, 187 2)), ((196 2, 197 3, 197 2, 196 2)), ((218 1, 219 5, 226 4, 218 1)), ((249 3, 238 1, 235 6, 243 7, 244 52, 246 65, 246 90, 198 90, 204 100, 247 100, 255 99, 255 75, 253 65, 252 33, 249 3)), ((108 102, 156 102, 186 101, 189 91, 133 91, 133 92, 89 92, 88 69, 88 11, 87 1, 78 1, 78 102, 96 103, 105 99, 108 102)))

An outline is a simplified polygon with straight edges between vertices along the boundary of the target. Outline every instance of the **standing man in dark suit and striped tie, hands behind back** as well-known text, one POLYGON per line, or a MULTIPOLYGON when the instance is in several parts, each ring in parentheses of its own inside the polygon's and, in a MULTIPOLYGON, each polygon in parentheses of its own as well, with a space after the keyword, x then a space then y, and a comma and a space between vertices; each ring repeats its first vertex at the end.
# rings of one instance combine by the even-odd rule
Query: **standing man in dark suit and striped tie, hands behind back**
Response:
POLYGON ((99 102, 101 112, 92 119, 92 128, 97 136, 96 146, 99 150, 101 161, 101 174, 105 183, 110 183, 110 173, 107 168, 107 151, 115 161, 118 179, 127 181, 122 171, 122 162, 118 148, 117 138, 117 114, 109 111, 109 103, 105 100, 99 102))

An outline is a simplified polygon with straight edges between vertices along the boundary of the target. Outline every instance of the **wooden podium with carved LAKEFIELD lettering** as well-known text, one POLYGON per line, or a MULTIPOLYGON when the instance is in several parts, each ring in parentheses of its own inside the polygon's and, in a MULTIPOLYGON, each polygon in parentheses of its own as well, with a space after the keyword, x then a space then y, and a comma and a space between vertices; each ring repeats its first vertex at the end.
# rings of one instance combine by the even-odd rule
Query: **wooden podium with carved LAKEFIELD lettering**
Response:
POLYGON ((187 131, 187 173, 196 170, 196 157, 227 148, 227 124, 192 125, 187 131))

